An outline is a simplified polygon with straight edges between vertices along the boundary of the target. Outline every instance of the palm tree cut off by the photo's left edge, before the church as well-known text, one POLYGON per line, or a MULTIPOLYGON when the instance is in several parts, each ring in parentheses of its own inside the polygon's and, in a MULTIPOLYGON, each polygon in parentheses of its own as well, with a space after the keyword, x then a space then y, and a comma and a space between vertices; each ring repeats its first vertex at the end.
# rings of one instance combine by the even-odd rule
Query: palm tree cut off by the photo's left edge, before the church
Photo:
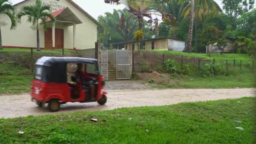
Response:
MULTIPOLYGON (((17 21, 15 17, 15 8, 11 5, 11 3, 9 3, 9 0, 0 0, 0 14, 5 14, 11 19, 11 30, 16 28, 17 21)), ((5 22, 0 21, 0 50, 3 49, 1 35, 1 26, 3 25, 5 25, 5 22)))

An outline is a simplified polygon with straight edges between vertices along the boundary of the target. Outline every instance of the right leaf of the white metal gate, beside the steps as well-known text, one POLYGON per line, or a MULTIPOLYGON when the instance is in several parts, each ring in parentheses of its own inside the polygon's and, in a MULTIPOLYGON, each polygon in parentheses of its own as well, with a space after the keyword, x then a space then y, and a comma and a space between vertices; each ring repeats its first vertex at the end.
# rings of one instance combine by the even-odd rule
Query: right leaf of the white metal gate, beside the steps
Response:
POLYGON ((116 57, 117 79, 131 78, 131 51, 118 51, 116 57))

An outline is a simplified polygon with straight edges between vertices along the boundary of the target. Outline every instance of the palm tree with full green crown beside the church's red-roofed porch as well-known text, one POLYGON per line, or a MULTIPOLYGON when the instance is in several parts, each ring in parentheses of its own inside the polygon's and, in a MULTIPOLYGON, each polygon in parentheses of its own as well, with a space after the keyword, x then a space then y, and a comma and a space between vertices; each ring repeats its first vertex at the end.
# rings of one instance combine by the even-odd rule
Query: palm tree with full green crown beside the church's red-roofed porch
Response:
POLYGON ((43 28, 47 29, 47 18, 51 19, 51 22, 55 22, 55 18, 51 14, 51 9, 49 5, 43 5, 41 0, 36 0, 35 4, 29 6, 23 6, 17 18, 21 23, 21 17, 27 16, 27 22, 32 23, 33 26, 36 26, 37 29, 37 51, 40 51, 40 37, 39 37, 39 22, 40 20, 43 23, 43 28))

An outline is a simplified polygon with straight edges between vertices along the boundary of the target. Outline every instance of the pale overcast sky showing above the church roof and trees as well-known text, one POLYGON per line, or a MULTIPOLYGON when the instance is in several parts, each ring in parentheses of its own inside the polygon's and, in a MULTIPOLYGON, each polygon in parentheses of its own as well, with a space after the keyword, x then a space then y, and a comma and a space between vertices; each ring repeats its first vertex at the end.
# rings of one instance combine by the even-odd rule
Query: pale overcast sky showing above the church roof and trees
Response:
MULTIPOLYGON (((11 0, 13 4, 19 3, 24 0, 11 0)), ((110 5, 104 3, 104 0, 73 0, 77 3, 81 8, 83 8, 87 13, 93 16, 95 19, 98 18, 99 15, 104 15, 105 12, 112 12, 113 9, 123 9, 124 5, 110 5)), ((222 8, 221 1, 215 0, 220 7, 222 8)), ((255 6, 256 7, 256 6, 255 6)))

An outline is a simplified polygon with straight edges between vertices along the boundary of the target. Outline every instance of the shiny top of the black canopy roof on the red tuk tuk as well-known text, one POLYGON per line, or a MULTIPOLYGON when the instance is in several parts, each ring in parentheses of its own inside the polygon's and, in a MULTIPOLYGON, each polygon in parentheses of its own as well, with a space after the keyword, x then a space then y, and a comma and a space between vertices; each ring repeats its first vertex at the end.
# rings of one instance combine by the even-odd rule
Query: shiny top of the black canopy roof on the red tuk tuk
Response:
POLYGON ((36 65, 48 66, 51 67, 53 64, 57 63, 89 63, 89 64, 98 64, 97 59, 86 59, 86 58, 78 58, 78 57, 49 57, 43 56, 38 59, 36 65))

